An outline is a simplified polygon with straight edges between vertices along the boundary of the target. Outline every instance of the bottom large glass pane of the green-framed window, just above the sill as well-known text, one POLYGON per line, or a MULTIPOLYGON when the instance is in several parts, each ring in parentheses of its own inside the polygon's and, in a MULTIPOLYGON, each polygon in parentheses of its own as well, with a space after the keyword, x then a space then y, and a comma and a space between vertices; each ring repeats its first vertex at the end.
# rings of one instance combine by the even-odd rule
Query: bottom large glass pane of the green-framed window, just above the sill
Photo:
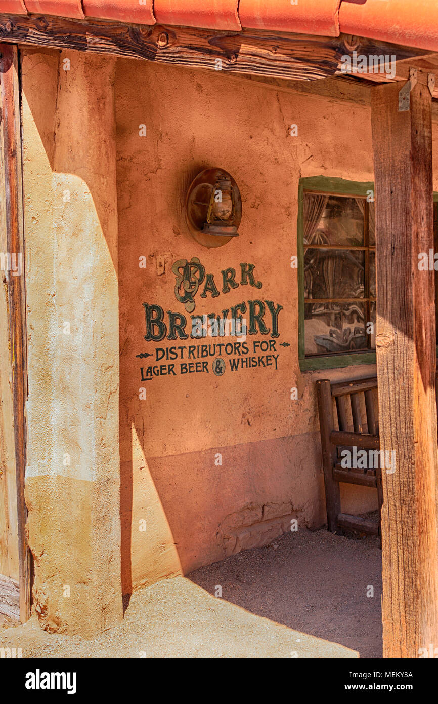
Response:
POLYGON ((367 350, 364 303, 306 303, 306 355, 367 350))

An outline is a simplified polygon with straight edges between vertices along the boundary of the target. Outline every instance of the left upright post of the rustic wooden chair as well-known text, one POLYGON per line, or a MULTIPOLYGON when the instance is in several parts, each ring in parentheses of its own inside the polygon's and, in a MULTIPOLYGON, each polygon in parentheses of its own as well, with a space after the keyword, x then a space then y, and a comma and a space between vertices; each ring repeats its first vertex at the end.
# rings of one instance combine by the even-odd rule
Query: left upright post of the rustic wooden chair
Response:
POLYGON ((330 382, 321 379, 316 382, 318 396, 319 426, 321 428, 321 448, 323 451, 324 486, 326 489, 327 526, 332 533, 339 533, 336 516, 341 510, 339 484, 333 479, 333 466, 336 460, 336 448, 330 442, 333 435, 333 406, 330 394, 330 382))

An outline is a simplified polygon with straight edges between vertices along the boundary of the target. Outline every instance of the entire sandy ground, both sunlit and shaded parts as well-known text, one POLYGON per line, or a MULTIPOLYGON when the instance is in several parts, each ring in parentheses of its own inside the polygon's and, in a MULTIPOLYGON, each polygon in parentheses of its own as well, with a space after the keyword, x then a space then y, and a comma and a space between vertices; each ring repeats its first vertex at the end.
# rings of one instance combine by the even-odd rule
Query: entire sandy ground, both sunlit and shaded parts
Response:
POLYGON ((123 624, 90 641, 46 633, 32 617, 0 631, 0 648, 22 658, 380 658, 380 570, 372 539, 301 529, 136 591, 123 624))

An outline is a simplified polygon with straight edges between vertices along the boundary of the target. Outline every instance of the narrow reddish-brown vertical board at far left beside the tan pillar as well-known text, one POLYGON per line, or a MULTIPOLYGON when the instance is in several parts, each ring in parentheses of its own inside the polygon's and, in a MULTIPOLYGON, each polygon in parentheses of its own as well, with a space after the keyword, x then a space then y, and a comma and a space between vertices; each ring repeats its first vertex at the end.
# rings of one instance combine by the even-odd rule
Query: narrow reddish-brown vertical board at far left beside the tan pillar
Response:
POLYGON ((6 203, 6 240, 8 253, 15 255, 17 260, 21 260, 20 275, 14 276, 8 272, 7 281, 17 479, 20 620, 24 623, 30 617, 30 553, 25 535, 27 355, 18 51, 17 47, 11 44, 0 44, 0 87, 2 146, 0 179, 6 203))

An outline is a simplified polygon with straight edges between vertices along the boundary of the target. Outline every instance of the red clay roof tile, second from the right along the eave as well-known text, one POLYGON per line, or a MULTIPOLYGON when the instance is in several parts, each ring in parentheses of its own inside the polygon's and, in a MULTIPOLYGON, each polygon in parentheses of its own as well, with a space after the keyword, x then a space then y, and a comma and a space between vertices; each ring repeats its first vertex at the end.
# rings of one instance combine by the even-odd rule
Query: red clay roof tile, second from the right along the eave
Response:
POLYGON ((337 37, 341 0, 240 0, 242 27, 337 37))

